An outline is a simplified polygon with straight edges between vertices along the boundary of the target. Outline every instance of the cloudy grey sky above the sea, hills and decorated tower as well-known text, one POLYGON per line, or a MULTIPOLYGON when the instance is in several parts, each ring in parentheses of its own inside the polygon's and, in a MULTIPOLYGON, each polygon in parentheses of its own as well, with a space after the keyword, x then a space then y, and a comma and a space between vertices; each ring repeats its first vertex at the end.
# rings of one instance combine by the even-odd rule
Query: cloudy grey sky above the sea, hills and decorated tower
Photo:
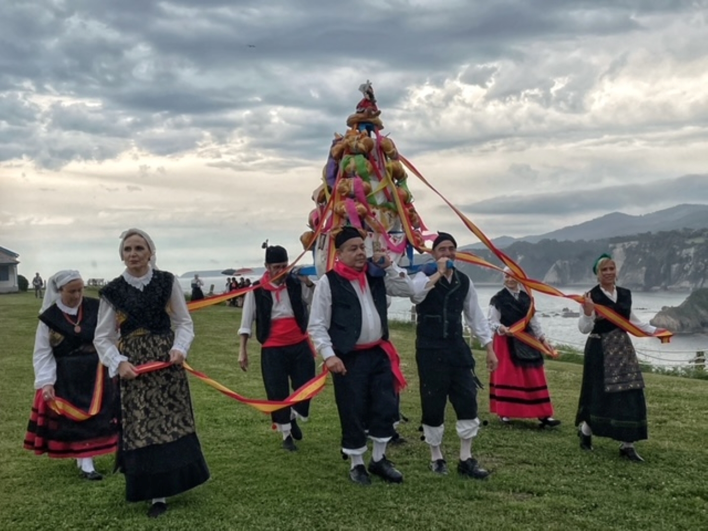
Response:
POLYGON ((2 1, 0 246, 28 277, 111 278, 130 226, 175 273, 299 252, 366 79, 491 237, 708 203, 706 35, 706 0, 2 1))

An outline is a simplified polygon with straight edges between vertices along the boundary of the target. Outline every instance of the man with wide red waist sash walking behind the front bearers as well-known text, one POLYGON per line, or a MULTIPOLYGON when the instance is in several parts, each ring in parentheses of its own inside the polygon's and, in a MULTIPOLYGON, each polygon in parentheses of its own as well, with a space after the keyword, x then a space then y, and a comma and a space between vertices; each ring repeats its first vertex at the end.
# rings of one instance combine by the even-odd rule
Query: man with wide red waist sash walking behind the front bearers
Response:
MULTIPOLYGON (((249 368, 246 345, 256 322, 261 343, 261 372, 268 400, 285 400, 292 390, 314 378, 314 353, 307 337, 307 304, 314 282, 305 276, 285 273, 287 251, 279 245, 265 249, 265 274, 255 290, 246 293, 241 314, 239 365, 249 368), (290 382, 288 382, 290 379, 290 382)), ((273 411, 270 418, 282 433, 282 447, 295 452, 295 440, 302 439, 297 418, 307 421, 309 400, 292 408, 273 411)))

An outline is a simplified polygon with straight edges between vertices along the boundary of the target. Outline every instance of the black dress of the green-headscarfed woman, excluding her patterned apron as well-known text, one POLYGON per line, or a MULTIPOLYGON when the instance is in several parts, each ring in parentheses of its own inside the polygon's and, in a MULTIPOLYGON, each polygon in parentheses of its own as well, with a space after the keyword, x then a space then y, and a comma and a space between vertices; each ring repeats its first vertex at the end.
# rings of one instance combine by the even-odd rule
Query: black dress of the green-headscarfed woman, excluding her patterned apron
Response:
MULTIPOLYGON (((616 287, 617 302, 607 297, 600 286, 590 290, 590 297, 596 304, 610 307, 625 319, 632 312, 632 292, 616 287)), ((647 438, 646 401, 644 389, 629 389, 619 392, 606 392, 605 352, 603 336, 626 335, 607 319, 597 319, 593 331, 588 337, 583 360, 583 384, 576 424, 587 422, 593 435, 609 437, 622 442, 634 442, 647 438)), ((605 338, 607 341, 607 338, 605 338)))

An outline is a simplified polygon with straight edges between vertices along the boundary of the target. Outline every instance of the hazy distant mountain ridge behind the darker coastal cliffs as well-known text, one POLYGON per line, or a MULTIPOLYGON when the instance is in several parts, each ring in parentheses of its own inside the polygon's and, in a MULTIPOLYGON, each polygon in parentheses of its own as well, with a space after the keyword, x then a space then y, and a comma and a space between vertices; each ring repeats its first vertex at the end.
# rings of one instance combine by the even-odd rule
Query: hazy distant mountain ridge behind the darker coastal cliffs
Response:
MULTIPOLYGON (((524 236, 514 239, 501 236, 492 242, 500 249, 515 241, 535 244, 544 239, 558 241, 598 240, 615 236, 631 236, 646 232, 662 232, 681 229, 704 229, 708 227, 708 205, 676 205, 651 214, 632 216, 622 212, 612 212, 602 217, 590 219, 578 225, 571 225, 545 234, 524 236)), ((483 249, 484 244, 474 244, 472 249, 483 249)))

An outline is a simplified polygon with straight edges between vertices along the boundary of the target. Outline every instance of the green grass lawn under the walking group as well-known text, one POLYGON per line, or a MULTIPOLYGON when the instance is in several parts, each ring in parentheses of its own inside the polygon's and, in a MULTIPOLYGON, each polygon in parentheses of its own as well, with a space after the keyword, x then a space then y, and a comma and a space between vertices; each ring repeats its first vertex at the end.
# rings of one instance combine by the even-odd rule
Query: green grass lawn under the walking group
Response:
MULTIPOLYGON (((89 294, 90 295, 90 294, 89 294)), ((79 479, 72 459, 37 457, 22 441, 33 398, 32 349, 39 302, 32 294, 0 296, 0 529, 165 530, 670 530, 708 528, 708 382, 645 375, 650 440, 638 445, 646 463, 619 459, 618 444, 595 438, 581 452, 573 428, 580 365, 549 361, 546 372, 563 425, 539 430, 532 421, 501 426, 479 396, 482 420, 473 452, 493 474, 464 481, 455 473, 455 419, 448 410, 443 447, 453 473, 428 471, 429 452, 418 432, 420 404, 413 329, 396 325, 393 341, 409 379, 401 397, 411 420, 408 440, 389 448, 404 473, 402 485, 348 480, 339 453, 339 422, 331 383, 314 399, 304 440, 293 454, 262 413, 190 378, 198 434, 212 479, 171 498, 169 511, 149 520, 144 503, 126 503, 120 474, 79 479)), ((264 398, 258 343, 251 370, 238 367, 240 310, 211 307, 193 314, 196 339, 189 362, 240 394, 264 398)), ((484 357, 476 353, 486 380, 484 357)), ((367 454, 366 459, 369 459, 367 454)), ((109 472, 113 457, 97 467, 109 472)))

